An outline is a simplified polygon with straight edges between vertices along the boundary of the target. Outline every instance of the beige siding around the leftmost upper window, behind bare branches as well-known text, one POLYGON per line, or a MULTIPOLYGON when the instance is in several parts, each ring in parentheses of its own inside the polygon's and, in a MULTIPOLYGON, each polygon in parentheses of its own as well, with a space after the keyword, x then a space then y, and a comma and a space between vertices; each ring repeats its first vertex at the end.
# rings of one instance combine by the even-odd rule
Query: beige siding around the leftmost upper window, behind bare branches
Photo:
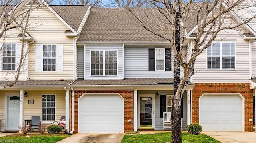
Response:
MULTIPOLYGON (((10 26, 14 26, 14 24, 11 24, 10 26)), ((20 34, 21 31, 18 28, 10 29, 9 31, 6 31, 6 38, 4 39, 4 36, 0 39, 0 44, 2 45, 3 43, 12 43, 12 44, 22 44, 22 41, 18 39, 18 34, 20 34), (3 41, 4 40, 4 41, 3 41)), ((26 43, 24 43, 24 53, 26 50, 26 43)), ((16 47, 17 48, 17 47, 16 47)), ((2 63, 2 62, 0 62, 2 63)), ((23 65, 25 66, 25 64, 23 65)), ((2 65, 0 66, 2 67, 2 65)), ((22 71, 25 71, 25 68, 22 68, 22 71)), ((15 80, 15 71, 2 71, 2 68, 0 69, 0 81, 5 81, 8 79, 9 81, 15 80)), ((19 80, 26 80, 25 79, 25 72, 20 73, 19 80)))

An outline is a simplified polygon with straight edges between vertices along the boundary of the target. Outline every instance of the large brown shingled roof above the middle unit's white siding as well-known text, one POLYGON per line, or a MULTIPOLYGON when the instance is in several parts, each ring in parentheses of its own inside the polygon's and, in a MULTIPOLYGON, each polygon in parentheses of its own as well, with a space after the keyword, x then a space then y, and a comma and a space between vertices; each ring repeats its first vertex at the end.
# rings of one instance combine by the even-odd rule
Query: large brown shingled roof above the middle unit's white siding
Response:
POLYGON ((80 41, 138 42, 166 41, 142 27, 125 8, 91 8, 80 41))

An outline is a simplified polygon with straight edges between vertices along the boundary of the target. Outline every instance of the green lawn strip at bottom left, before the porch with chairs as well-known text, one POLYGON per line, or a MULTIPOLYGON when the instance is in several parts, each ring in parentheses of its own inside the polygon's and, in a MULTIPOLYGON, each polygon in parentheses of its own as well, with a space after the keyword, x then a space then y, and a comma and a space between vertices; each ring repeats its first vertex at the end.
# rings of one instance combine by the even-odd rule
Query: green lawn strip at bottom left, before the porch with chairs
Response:
POLYGON ((13 134, 4 137, 0 137, 0 143, 56 143, 70 135, 64 134, 13 134))

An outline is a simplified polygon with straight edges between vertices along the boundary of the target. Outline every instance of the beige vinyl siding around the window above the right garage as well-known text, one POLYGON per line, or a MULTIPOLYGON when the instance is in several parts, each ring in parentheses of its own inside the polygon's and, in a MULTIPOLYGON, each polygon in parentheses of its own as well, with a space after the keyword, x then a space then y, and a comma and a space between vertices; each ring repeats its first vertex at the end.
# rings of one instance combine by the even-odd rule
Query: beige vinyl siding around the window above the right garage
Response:
POLYGON ((235 41, 235 70, 207 70, 206 50, 197 58, 193 82, 248 82, 249 44, 242 37, 242 31, 230 29, 221 31, 215 41, 235 41))

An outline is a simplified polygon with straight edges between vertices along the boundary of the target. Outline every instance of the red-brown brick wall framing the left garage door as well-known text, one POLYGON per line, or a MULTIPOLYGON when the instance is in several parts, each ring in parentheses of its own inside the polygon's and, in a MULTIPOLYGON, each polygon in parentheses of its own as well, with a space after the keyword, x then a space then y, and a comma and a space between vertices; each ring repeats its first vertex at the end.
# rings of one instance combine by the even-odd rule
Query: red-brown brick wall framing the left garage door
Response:
POLYGON ((74 90, 74 133, 78 133, 78 98, 84 93, 119 93, 124 98, 124 132, 133 131, 133 90, 74 90))

